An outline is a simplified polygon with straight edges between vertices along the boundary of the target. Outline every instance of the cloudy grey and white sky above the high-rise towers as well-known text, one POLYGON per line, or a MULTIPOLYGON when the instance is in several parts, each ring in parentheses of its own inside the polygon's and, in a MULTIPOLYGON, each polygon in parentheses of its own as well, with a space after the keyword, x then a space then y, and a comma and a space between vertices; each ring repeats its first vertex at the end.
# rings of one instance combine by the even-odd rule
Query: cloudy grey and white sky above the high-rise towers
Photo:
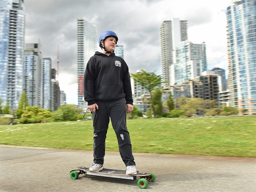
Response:
MULTIPOLYGON (((68 104, 77 104, 77 18, 97 26, 98 36, 116 32, 124 46, 129 72, 138 69, 161 75, 159 29, 165 20, 188 22, 188 40, 206 43, 208 70, 220 67, 227 76, 226 8, 231 0, 24 0, 25 43, 42 45, 43 57, 57 69, 60 90, 68 104)), ((95 51, 101 51, 98 47, 95 51)))

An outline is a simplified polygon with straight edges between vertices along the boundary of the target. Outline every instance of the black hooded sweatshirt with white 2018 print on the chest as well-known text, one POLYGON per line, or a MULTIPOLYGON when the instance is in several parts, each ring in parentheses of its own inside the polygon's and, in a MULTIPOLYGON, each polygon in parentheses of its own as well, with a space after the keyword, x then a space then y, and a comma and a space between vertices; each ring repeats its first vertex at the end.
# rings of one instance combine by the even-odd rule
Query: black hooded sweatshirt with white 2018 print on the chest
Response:
POLYGON ((133 105, 128 66, 114 53, 108 56, 95 52, 86 65, 83 79, 84 101, 88 105, 120 98, 133 105))

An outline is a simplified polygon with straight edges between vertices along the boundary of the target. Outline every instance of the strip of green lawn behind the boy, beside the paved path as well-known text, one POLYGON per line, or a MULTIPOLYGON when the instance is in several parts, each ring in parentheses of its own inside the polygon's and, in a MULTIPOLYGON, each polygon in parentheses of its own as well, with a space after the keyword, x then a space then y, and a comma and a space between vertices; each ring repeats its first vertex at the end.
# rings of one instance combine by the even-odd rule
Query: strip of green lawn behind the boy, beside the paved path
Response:
MULTIPOLYGON (((255 117, 127 120, 133 152, 256 157, 255 117)), ((0 126, 0 144, 93 150, 92 121, 0 126)), ((118 151, 110 123, 106 151, 118 151)))

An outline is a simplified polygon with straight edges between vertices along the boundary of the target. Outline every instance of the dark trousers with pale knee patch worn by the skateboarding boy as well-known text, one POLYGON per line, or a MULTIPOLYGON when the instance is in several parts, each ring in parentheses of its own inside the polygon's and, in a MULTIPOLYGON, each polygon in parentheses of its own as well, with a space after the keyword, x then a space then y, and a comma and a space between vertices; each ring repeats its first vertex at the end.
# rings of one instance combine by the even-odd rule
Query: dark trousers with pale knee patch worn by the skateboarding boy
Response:
POLYGON ((125 166, 135 165, 132 155, 132 144, 126 126, 127 108, 125 98, 115 101, 96 101, 99 109, 93 112, 94 143, 93 157, 94 163, 103 165, 105 156, 105 140, 108 131, 109 117, 114 131, 116 132, 119 153, 125 166))

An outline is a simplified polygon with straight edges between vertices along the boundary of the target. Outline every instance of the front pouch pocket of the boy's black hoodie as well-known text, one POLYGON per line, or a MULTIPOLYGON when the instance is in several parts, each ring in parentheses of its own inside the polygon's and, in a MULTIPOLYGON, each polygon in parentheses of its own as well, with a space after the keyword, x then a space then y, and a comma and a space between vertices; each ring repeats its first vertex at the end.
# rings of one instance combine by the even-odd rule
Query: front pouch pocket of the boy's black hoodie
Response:
POLYGON ((119 84, 103 84, 95 94, 96 100, 111 101, 124 97, 124 91, 119 84))

